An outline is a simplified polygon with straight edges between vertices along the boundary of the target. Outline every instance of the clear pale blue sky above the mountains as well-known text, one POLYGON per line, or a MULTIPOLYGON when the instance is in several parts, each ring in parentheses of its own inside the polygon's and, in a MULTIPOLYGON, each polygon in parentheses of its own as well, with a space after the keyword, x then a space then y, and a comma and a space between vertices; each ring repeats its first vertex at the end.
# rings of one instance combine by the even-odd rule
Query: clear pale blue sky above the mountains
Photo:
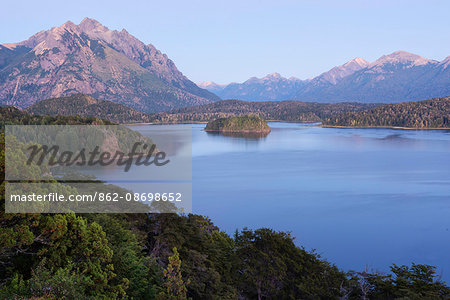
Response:
POLYGON ((152 43, 195 82, 306 79, 396 50, 442 60, 449 15, 448 0, 13 0, 0 10, 0 43, 88 16, 152 43))

